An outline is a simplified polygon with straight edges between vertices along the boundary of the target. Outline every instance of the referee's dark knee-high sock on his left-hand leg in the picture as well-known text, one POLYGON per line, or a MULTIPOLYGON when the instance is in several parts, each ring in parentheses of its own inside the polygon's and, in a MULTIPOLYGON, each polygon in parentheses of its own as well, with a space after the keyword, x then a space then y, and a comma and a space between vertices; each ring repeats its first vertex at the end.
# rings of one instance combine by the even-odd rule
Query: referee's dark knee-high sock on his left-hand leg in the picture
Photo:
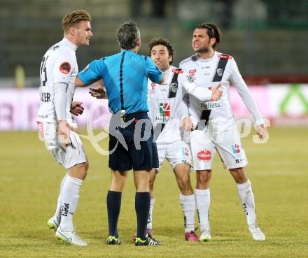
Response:
POLYGON ((109 223, 109 236, 118 238, 118 218, 120 215, 122 192, 108 191, 107 210, 109 223))

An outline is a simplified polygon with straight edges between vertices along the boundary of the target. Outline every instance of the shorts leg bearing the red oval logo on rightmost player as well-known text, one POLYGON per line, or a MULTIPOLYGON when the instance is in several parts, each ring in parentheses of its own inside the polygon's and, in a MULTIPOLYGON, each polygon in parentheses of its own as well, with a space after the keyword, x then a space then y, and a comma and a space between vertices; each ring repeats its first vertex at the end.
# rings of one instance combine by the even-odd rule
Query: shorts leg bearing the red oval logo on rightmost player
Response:
POLYGON ((195 170, 211 170, 215 148, 207 131, 191 131, 190 148, 193 156, 193 168, 195 170))

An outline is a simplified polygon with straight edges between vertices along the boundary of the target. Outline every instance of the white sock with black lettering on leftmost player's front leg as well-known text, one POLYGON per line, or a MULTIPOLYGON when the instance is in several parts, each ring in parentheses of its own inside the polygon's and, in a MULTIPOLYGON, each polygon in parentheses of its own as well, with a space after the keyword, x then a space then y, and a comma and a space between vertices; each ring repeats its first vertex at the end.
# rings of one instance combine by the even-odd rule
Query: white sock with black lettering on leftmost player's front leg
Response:
POLYGON ((61 200, 61 223, 60 227, 63 231, 69 231, 73 229, 73 213, 76 211, 79 189, 83 184, 83 180, 78 178, 72 178, 67 175, 66 180, 62 187, 62 200, 61 200))

